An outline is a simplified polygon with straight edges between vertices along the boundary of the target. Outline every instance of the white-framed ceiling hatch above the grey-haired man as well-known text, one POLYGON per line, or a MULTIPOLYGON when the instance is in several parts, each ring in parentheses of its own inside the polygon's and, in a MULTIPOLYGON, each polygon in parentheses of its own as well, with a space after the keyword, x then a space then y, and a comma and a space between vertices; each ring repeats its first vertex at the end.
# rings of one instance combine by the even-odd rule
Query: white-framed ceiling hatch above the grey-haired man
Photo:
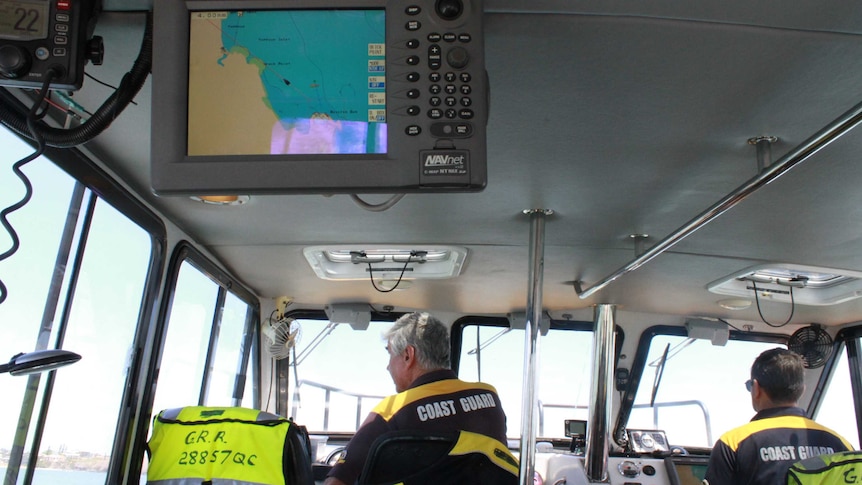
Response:
POLYGON ((318 278, 343 281, 454 278, 467 261, 467 248, 439 245, 311 246, 302 254, 318 278))

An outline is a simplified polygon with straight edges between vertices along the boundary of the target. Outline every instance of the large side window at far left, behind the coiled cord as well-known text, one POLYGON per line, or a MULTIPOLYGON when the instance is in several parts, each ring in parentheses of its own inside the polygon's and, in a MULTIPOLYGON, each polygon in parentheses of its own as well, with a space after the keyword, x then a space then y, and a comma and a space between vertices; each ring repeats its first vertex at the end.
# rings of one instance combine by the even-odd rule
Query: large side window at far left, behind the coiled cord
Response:
MULTIPOLYGON (((6 208, 24 195, 10 167, 32 149, 3 127, 0 146, 6 208)), ((9 216, 20 247, 0 261, 8 291, 0 304, 0 359, 55 347, 82 359, 53 373, 0 375, 0 474, 5 483, 103 484, 145 318, 141 301, 152 286, 155 239, 48 158, 23 172, 33 196, 9 216)), ((11 246, 0 231, 0 251, 11 246)))

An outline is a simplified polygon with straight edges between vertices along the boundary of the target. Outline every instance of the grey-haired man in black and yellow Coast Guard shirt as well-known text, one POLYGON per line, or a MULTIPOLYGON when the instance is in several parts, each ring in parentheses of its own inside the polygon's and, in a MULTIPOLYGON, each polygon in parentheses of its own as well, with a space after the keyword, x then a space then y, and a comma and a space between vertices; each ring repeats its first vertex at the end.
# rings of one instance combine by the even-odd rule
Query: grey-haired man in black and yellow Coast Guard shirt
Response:
MULTIPOLYGON (((506 415, 493 386, 450 369, 449 329, 427 313, 399 318, 384 338, 398 394, 378 404, 347 445, 325 485, 353 484, 371 444, 390 431, 468 431, 506 444, 506 415)), ((508 450, 505 450, 508 451, 508 450)))

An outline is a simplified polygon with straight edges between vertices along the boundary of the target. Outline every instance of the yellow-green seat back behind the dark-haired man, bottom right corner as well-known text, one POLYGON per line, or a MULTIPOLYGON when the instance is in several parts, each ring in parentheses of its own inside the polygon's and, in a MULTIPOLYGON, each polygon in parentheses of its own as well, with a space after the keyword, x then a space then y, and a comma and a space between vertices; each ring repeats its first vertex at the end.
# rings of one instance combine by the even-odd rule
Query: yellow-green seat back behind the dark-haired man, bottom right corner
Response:
POLYGON ((794 463, 787 471, 788 485, 862 483, 862 451, 842 451, 794 463))

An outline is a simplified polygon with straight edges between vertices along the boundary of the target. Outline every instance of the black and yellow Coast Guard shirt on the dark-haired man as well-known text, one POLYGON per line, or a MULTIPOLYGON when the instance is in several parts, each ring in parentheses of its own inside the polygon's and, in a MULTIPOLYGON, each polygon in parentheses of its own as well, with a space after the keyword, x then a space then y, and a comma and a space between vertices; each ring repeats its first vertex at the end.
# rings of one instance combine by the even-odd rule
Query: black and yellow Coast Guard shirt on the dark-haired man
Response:
POLYGON ((847 440, 806 418, 801 408, 764 409, 715 443, 705 483, 783 485, 793 463, 850 449, 847 440))

